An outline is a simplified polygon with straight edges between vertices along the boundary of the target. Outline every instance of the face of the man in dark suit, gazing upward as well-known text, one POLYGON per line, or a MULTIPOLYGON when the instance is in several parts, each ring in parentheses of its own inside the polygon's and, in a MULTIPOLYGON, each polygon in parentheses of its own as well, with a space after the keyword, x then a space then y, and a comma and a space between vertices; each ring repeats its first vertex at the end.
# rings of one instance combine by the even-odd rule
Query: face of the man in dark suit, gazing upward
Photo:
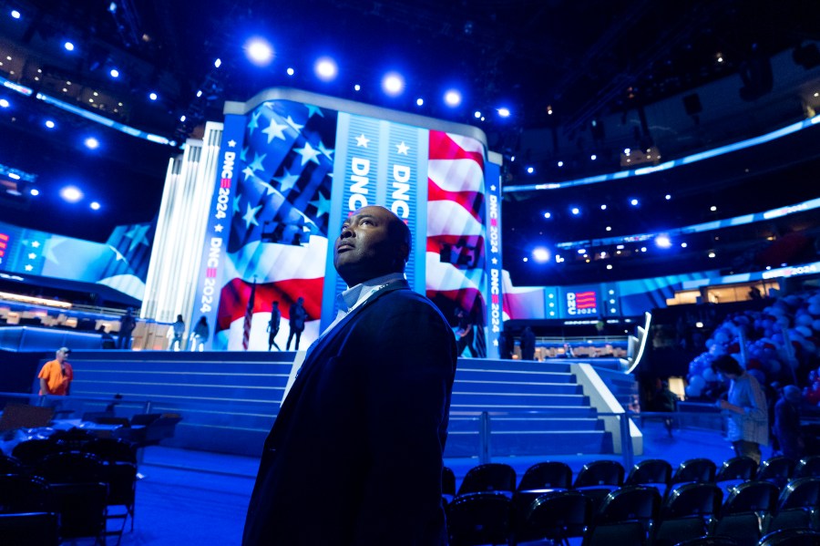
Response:
POLYGON ((333 266, 348 286, 401 271, 401 250, 389 232, 394 221, 400 220, 383 207, 364 207, 343 222, 333 266))

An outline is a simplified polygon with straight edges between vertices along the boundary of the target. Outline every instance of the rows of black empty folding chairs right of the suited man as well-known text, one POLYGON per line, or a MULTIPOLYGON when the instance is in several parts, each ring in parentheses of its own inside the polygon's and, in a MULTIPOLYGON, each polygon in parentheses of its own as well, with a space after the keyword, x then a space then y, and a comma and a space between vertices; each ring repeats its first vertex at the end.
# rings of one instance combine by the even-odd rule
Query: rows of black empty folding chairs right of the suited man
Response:
POLYGON ((520 479, 505 463, 477 465, 457 489, 449 486, 455 496, 445 495, 449 540, 463 546, 820 544, 813 457, 796 464, 773 458, 759 468, 745 458, 722 465, 706 460, 673 469, 663 459, 646 459, 627 473, 618 461, 601 459, 574 477, 567 463, 544 460, 520 479))

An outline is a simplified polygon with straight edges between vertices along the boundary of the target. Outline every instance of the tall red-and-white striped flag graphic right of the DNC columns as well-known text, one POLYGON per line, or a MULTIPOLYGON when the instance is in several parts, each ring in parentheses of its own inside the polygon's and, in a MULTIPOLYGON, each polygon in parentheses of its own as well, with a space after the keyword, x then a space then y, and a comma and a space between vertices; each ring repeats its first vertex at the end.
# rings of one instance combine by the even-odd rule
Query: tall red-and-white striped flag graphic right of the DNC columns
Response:
POLYGON ((426 294, 446 316, 457 307, 469 314, 478 355, 486 355, 484 161, 476 139, 430 131, 426 294))

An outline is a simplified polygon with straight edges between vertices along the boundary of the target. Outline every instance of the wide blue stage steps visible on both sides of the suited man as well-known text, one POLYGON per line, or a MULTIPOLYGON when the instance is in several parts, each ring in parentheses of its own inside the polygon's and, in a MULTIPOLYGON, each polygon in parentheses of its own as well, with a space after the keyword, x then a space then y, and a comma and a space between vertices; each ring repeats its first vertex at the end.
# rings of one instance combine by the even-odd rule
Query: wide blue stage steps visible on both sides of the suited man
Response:
MULTIPOLYGON (((71 394, 103 400, 77 408, 73 417, 102 411, 120 394, 118 416, 141 413, 150 401, 151 412, 183 417, 163 445, 259 456, 294 355, 74 351, 71 394)), ((459 359, 446 457, 478 456, 478 416, 485 411, 492 456, 612 452, 610 433, 566 361, 459 359)))

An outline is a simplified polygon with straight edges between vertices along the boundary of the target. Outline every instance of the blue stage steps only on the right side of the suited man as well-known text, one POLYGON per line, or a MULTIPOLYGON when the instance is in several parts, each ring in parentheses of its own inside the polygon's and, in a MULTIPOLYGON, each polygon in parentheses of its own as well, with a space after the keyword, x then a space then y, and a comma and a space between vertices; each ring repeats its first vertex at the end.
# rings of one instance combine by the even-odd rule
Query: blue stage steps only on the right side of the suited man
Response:
POLYGON ((613 450, 566 362, 459 359, 446 457, 479 455, 484 412, 492 457, 613 450))

